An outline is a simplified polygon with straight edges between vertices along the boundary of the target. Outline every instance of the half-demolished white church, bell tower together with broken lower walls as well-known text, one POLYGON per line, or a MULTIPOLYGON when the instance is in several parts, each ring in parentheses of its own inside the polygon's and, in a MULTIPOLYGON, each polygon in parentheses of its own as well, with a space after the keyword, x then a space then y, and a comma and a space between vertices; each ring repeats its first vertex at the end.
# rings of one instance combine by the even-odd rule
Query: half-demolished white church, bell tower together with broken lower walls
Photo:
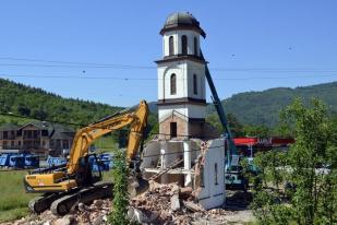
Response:
POLYGON ((192 187, 206 210, 225 201, 225 142, 205 121, 206 61, 200 40, 206 33, 190 13, 173 13, 160 31, 158 67, 159 134, 146 144, 141 168, 160 183, 192 187))

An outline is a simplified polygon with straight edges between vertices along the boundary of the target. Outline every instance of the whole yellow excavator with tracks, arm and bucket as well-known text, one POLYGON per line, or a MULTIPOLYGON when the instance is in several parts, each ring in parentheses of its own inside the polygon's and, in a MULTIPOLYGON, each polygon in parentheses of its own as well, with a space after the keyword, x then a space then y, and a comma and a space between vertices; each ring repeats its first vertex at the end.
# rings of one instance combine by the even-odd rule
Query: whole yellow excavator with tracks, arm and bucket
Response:
MULTIPOLYGON (((56 215, 64 215, 77 203, 87 203, 95 199, 112 196, 112 182, 101 181, 92 173, 89 165, 89 146, 98 138, 130 126, 129 142, 125 151, 127 161, 133 167, 129 185, 137 191, 146 187, 146 181, 139 176, 136 161, 147 123, 148 106, 142 100, 136 110, 120 111, 99 121, 79 129, 72 144, 65 166, 36 169, 24 177, 26 192, 40 192, 40 197, 29 202, 29 209, 41 213, 47 209, 56 215)), ((96 158, 96 162, 99 162, 96 158)))

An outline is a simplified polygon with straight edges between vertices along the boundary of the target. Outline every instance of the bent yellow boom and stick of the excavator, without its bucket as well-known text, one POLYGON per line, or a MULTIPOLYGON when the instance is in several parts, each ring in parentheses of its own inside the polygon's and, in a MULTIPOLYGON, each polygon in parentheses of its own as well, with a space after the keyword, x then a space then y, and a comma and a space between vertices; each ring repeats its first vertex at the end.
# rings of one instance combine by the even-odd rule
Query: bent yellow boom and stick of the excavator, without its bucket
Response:
POLYGON ((134 112, 111 116, 92 123, 88 127, 80 129, 74 138, 70 159, 67 165, 69 175, 77 171, 80 158, 88 154, 88 147, 98 138, 131 126, 129 143, 127 149, 127 159, 132 161, 140 147, 143 139, 143 131, 146 127, 148 107, 145 100, 142 100, 134 112))

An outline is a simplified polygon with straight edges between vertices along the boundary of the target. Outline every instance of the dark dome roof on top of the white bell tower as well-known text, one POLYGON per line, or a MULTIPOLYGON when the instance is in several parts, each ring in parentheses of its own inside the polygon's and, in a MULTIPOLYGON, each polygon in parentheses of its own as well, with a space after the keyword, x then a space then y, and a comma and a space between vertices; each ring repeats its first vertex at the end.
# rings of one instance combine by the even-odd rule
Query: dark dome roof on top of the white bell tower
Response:
POLYGON ((203 37, 206 37, 206 33, 200 27, 198 21, 189 12, 176 12, 170 14, 167 17, 160 34, 163 35, 165 32, 174 29, 194 29, 203 37))

